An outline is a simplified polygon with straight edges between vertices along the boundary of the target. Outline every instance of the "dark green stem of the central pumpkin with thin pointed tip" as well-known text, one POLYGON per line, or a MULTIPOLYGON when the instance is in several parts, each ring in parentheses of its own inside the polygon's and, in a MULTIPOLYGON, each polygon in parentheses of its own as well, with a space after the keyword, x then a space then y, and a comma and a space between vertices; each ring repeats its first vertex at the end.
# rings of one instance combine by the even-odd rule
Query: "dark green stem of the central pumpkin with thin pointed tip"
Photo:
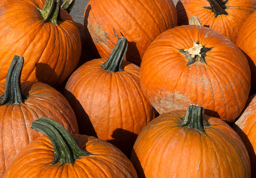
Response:
POLYGON ((110 72, 120 72, 120 71, 124 71, 121 65, 127 51, 128 42, 125 37, 120 38, 115 32, 115 30, 114 30, 114 33, 118 39, 117 43, 112 53, 110 54, 108 61, 106 61, 102 65, 103 65, 103 70, 110 71, 110 72))

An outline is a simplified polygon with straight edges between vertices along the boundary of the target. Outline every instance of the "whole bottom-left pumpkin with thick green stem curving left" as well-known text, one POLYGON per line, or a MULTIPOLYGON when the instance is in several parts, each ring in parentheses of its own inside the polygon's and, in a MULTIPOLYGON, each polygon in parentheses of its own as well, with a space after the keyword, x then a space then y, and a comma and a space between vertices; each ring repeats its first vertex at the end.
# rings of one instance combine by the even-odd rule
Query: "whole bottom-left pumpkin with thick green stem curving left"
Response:
POLYGON ((46 136, 34 140, 17 154, 5 178, 137 178, 129 159, 106 141, 70 135, 48 117, 34 121, 31 128, 46 136))

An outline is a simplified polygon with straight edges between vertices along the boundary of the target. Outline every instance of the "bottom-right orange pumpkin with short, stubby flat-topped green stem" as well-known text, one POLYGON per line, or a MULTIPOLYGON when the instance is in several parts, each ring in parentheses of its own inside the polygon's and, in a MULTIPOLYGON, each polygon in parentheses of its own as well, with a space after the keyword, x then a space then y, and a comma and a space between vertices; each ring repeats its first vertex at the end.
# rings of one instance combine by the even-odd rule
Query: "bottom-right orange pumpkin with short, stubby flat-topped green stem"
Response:
POLYGON ((250 177, 238 134, 204 108, 164 113, 139 134, 131 154, 138 177, 250 177))

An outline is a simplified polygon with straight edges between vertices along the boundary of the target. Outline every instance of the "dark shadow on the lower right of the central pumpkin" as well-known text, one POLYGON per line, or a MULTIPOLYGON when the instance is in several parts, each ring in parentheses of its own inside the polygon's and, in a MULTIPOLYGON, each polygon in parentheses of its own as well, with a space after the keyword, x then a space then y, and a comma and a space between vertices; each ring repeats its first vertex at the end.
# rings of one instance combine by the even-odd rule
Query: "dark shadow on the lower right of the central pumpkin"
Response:
POLYGON ((125 154, 125 156, 130 159, 131 151, 138 134, 118 128, 113 131, 111 136, 113 139, 107 141, 119 148, 125 154))

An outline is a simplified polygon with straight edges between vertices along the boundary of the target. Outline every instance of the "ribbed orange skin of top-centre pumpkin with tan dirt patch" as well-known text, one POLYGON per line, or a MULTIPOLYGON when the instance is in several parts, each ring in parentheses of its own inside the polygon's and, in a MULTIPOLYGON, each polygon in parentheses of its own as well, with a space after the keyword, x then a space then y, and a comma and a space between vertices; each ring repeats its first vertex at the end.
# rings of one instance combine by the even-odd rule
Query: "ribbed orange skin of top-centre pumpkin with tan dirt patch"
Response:
POLYGON ((90 0, 84 11, 86 33, 100 57, 108 58, 117 42, 114 28, 127 38, 126 60, 136 65, 150 43, 175 26, 177 13, 171 0, 90 0))

